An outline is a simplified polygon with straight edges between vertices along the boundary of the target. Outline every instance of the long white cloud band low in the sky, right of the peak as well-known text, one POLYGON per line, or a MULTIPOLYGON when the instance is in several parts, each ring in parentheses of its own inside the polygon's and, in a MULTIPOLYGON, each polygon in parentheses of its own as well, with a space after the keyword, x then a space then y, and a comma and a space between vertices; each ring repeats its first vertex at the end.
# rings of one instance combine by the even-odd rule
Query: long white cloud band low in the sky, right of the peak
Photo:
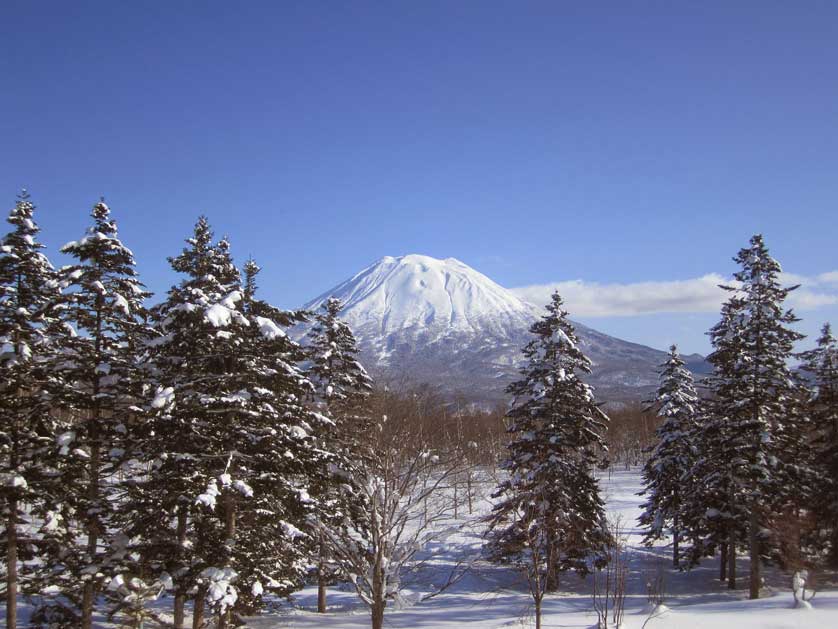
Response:
MULTIPOLYGON (((784 273, 782 281, 786 285, 800 284, 788 299, 788 305, 796 310, 838 304, 838 271, 815 277, 784 273)), ((541 305, 558 290, 575 317, 631 317, 664 312, 718 312, 728 294, 719 284, 730 283, 729 278, 709 273, 686 280, 631 284, 571 280, 522 286, 513 288, 512 292, 525 301, 541 305)))

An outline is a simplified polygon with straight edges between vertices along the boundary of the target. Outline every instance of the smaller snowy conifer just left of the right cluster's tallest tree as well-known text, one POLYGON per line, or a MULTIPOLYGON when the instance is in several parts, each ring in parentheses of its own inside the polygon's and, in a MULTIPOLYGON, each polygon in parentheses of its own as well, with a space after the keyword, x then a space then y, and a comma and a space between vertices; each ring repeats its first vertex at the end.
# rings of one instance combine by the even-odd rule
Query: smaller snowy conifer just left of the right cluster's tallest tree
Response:
POLYGON ((653 407, 662 419, 657 429, 658 443, 643 467, 646 495, 639 521, 649 530, 644 542, 651 544, 672 532, 672 562, 679 565, 678 543, 681 537, 681 502, 684 484, 692 469, 695 452, 692 438, 696 434, 699 400, 692 374, 675 345, 669 358, 661 365, 660 386, 653 407))

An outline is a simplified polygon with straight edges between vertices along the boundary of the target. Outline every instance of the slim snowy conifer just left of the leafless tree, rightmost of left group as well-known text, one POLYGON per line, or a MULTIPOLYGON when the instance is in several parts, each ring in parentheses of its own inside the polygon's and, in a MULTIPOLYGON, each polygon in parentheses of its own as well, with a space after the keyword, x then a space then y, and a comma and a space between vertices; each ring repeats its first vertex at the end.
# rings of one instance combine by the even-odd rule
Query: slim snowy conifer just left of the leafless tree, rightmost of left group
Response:
MULTIPOLYGON (((337 515, 328 521, 323 514, 320 526, 343 526, 356 521, 353 512, 362 505, 363 492, 352 487, 353 459, 365 456, 371 421, 365 402, 372 390, 372 379, 358 360, 358 346, 349 326, 338 318, 340 300, 329 298, 314 315, 309 331, 309 379, 315 386, 315 406, 331 420, 319 436, 323 447, 336 456, 333 478, 315 487, 328 511, 337 515)), ((329 562, 327 536, 320 535, 317 567, 317 611, 326 611, 326 585, 335 576, 329 562)))

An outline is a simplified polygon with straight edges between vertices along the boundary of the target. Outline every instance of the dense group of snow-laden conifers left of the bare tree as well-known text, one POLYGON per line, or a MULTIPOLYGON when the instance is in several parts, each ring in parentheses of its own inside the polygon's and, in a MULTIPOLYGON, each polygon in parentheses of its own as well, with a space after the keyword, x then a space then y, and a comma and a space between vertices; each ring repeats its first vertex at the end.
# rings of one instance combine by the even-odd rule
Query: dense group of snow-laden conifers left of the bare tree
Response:
POLYGON ((297 590, 327 561, 316 531, 364 530, 353 474, 371 381, 330 300, 315 314, 260 299, 201 217, 169 258, 162 301, 138 277, 104 202, 61 249, 38 241, 26 193, 0 245, 0 510, 6 626, 218 627, 297 590), (305 348, 287 329, 311 321, 305 348), (361 523, 361 524, 359 524, 361 523), (319 558, 319 561, 318 561, 319 558), (159 609, 158 609, 159 611, 159 609))

